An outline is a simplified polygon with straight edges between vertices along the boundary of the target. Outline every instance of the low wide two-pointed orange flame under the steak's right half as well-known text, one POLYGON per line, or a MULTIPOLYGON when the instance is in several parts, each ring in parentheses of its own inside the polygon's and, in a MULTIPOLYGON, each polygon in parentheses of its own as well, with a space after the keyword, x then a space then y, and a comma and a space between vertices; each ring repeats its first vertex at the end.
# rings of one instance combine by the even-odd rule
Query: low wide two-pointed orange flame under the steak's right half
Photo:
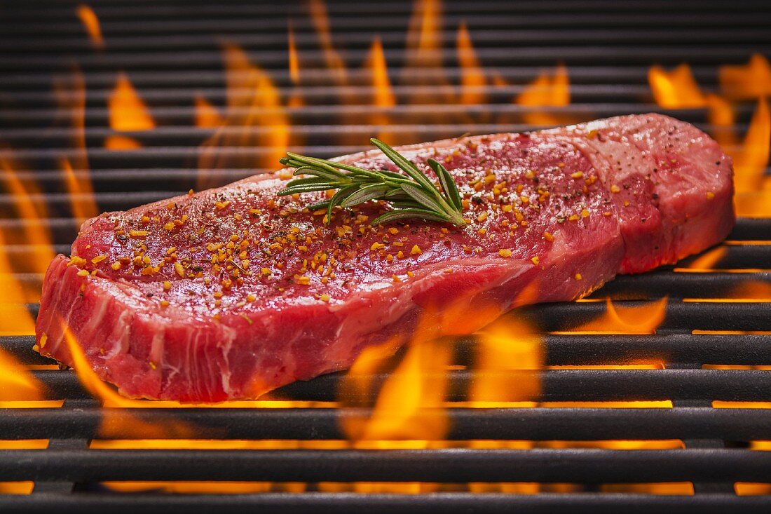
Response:
POLYGON ((655 333, 667 313, 666 298, 635 307, 616 306, 609 298, 605 304, 605 312, 597 320, 584 323, 567 333, 655 333))

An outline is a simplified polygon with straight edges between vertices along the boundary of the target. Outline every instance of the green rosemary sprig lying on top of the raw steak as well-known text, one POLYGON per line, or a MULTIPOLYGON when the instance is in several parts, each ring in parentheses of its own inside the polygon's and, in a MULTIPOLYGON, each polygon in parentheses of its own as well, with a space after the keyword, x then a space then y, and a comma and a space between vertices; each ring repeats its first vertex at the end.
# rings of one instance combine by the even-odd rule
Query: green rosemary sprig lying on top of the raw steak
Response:
POLYGON ((372 225, 403 218, 442 221, 459 227, 466 225, 458 187, 442 164, 433 159, 428 160, 429 167, 439 178, 442 187, 440 191, 423 171, 392 147, 375 137, 370 139, 370 142, 382 150, 382 153, 406 175, 387 170, 365 170, 349 164, 287 152, 287 157, 280 160, 281 164, 294 167, 295 176, 310 177, 289 181, 285 189, 278 191, 278 195, 337 189, 330 200, 308 206, 311 211, 326 208, 325 223, 332 219, 332 209, 335 205, 348 208, 365 201, 384 200, 392 204, 393 210, 372 220, 372 225))

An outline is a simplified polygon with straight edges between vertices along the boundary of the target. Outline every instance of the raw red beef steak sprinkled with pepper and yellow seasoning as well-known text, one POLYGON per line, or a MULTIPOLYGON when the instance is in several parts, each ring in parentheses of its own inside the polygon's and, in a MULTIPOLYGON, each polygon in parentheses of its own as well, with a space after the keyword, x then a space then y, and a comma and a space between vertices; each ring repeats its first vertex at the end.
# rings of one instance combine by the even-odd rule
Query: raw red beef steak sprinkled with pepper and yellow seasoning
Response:
MULTIPOLYGON (((656 114, 398 150, 429 174, 429 157, 446 165, 468 226, 373 227, 387 207, 372 202, 325 226, 303 210, 323 194, 276 196, 286 171, 105 213, 49 267, 40 352, 72 364, 69 326, 127 396, 255 398, 344 369, 369 345, 396 347, 418 325, 476 330, 517 303, 580 298, 734 223, 729 157, 656 114)), ((340 159, 396 169, 379 150, 340 159)))

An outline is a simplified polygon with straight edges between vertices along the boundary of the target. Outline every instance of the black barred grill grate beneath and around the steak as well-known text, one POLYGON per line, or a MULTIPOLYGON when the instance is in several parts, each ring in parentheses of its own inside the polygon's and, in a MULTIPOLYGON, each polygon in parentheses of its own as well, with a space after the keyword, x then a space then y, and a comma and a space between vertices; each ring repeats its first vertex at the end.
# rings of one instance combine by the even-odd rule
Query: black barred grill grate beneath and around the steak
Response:
MULTIPOLYGON (((569 71, 572 102, 540 110, 578 121, 659 110, 646 79, 653 63, 688 62, 699 83, 715 90, 717 66, 744 63, 752 52, 771 55, 766 2, 445 2, 446 30, 439 35, 446 55, 465 21, 486 72, 505 84, 488 82, 481 104, 444 104, 438 96, 411 103, 426 87, 433 92, 421 86, 433 70, 405 68, 412 4, 334 2, 328 6, 332 33, 348 65, 350 101, 340 105, 307 5, 135 3, 93 5, 103 50, 89 42, 74 3, 35 2, 3 12, 0 140, 13 148, 14 161, 26 164, 28 171, 15 175, 19 181, 39 188, 31 198, 45 201, 42 223, 56 252, 68 252, 78 228, 59 160, 74 163, 76 178, 87 172, 78 167, 82 150, 73 149, 72 129, 58 119, 51 92, 52 77, 70 73, 72 63, 86 81, 84 140, 96 202, 99 210, 118 210, 199 184, 198 146, 217 131, 194 126, 194 99, 200 94, 224 110, 225 40, 267 70, 282 97, 303 100, 285 109, 289 144, 322 157, 359 150, 384 130, 370 117, 371 86, 358 71, 373 32, 385 47, 397 103, 385 129, 408 139, 399 143, 534 128, 525 118, 533 107, 510 100, 558 62, 569 71), (288 17, 300 49, 299 83, 287 69, 288 17), (157 127, 109 128, 106 103, 120 70, 157 127), (113 136, 130 137, 140 147, 106 148, 113 136)), ((446 57, 443 75, 458 84, 463 69, 446 57)), ((746 130, 751 106, 736 112, 746 130)), ((715 129, 705 124, 703 109, 670 113, 715 129)), ((214 183, 270 166, 263 159, 271 156, 268 147, 227 151, 254 157, 256 164, 210 171, 214 183)), ((6 160, 10 155, 3 150, 6 160)), ((32 234, 24 229, 41 221, 19 218, 12 191, 0 195, 0 228, 32 234)), ((544 333, 543 369, 503 373, 509 383, 539 384, 535 398, 514 395, 512 403, 489 408, 470 404, 471 384, 483 373, 474 366, 477 341, 448 341, 453 359, 443 372, 445 403, 420 419, 446 416, 449 429, 437 440, 392 444, 401 449, 355 445, 342 430, 372 411, 379 384, 391 376, 387 370, 365 377, 373 384, 368 391, 346 392, 345 374, 330 374, 246 408, 102 407, 72 370, 52 369, 50 360, 32 353, 32 336, 2 336, 0 348, 30 370, 43 391, 30 408, 0 404, 0 492, 29 492, 34 482, 31 494, 0 495, 0 509, 768 512, 771 454, 762 450, 771 448, 771 298, 737 291, 749 282, 769 291, 769 241, 771 221, 741 218, 709 265, 692 258, 677 268, 622 276, 591 297, 610 297, 619 307, 668 297, 652 334, 577 332, 605 313, 601 301, 534 306, 512 315, 544 333), (195 427, 193 436, 187 427, 195 427), (132 447, 144 449, 125 449, 132 447), (170 482, 177 493, 159 494, 170 482), (127 490, 133 492, 120 493, 127 490)), ((15 279, 27 295, 39 291, 42 276, 25 263, 42 242, 6 243, 15 279)), ((34 303, 28 308, 36 313, 34 303)))

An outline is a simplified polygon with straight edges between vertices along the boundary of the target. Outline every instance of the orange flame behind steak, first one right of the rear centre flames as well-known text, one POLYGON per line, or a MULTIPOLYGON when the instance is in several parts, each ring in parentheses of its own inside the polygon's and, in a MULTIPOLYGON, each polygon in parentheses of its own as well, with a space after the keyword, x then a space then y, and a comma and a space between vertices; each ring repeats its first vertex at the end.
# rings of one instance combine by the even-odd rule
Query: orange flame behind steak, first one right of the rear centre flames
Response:
MULTIPOLYGON (((554 76, 544 72, 533 82, 524 87, 517 95, 517 105, 524 107, 567 107, 571 103, 570 79, 567 67, 563 64, 554 70, 554 76)), ((524 114, 525 123, 530 125, 557 125, 563 121, 561 117, 539 110, 528 110, 524 114)))

